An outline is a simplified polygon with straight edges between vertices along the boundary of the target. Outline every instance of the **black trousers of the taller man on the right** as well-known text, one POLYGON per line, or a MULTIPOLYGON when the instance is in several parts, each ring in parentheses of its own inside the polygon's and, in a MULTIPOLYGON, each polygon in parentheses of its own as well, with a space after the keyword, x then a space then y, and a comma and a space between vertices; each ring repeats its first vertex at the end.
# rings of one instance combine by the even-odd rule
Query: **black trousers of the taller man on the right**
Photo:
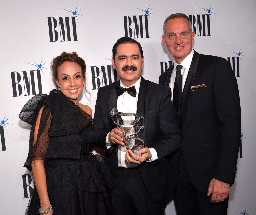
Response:
POLYGON ((174 204, 177 215, 226 215, 228 198, 220 203, 210 203, 211 195, 199 192, 192 184, 182 153, 174 204))

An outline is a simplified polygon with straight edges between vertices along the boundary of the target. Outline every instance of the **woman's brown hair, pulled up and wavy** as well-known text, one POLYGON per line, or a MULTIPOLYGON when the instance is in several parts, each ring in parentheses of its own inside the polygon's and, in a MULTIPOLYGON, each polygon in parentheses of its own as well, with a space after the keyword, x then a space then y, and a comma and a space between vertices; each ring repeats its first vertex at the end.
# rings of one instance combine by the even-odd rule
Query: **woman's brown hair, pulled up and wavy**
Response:
MULTIPOLYGON (((61 64, 63 64, 66 61, 74 62, 74 63, 77 63, 79 66, 81 66, 83 80, 84 80, 84 86, 85 86, 86 64, 85 64, 84 60, 81 57, 79 57, 76 52, 71 52, 71 53, 62 52, 62 54, 53 58, 53 60, 51 62, 51 69, 52 69, 54 79, 58 80, 58 68, 61 64)), ((56 84, 56 87, 58 87, 57 84, 56 84)))

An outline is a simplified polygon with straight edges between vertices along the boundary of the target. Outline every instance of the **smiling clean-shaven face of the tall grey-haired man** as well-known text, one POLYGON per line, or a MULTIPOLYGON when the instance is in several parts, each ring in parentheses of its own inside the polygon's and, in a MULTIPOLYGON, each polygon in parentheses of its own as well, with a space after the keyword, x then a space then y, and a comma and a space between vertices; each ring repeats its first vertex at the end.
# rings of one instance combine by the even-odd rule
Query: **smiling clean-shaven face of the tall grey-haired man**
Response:
POLYGON ((168 20, 165 31, 166 35, 162 35, 164 46, 173 55, 176 63, 181 64, 192 50, 195 32, 191 32, 188 21, 183 17, 168 20))

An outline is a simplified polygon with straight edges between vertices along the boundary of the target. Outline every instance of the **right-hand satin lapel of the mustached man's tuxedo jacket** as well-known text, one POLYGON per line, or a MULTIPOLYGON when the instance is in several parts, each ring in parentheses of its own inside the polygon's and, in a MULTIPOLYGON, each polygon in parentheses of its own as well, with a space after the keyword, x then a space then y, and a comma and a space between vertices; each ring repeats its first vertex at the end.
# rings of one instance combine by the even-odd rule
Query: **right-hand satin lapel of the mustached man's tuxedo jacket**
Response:
POLYGON ((147 81, 143 77, 141 77, 140 89, 138 94, 138 102, 137 102, 137 114, 140 114, 144 117, 144 129, 142 130, 142 139, 145 141, 146 137, 146 112, 147 112, 147 81))

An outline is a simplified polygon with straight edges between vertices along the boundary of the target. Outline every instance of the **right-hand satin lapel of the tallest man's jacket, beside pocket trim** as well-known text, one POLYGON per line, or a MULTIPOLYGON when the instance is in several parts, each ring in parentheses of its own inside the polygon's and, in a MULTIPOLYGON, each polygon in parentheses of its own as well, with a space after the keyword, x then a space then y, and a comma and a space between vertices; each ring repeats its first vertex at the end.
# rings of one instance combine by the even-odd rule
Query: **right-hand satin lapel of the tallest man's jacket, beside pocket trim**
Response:
POLYGON ((188 76, 187 76, 187 79, 186 79, 186 82, 185 82, 185 85, 184 85, 184 88, 182 91, 180 120, 179 120, 180 127, 182 127, 183 121, 186 116, 188 102, 189 102, 189 95, 190 95, 190 90, 191 90, 190 86, 192 86, 192 83, 194 80, 199 57, 200 57, 200 55, 196 51, 194 51, 194 56, 192 58, 188 76))

